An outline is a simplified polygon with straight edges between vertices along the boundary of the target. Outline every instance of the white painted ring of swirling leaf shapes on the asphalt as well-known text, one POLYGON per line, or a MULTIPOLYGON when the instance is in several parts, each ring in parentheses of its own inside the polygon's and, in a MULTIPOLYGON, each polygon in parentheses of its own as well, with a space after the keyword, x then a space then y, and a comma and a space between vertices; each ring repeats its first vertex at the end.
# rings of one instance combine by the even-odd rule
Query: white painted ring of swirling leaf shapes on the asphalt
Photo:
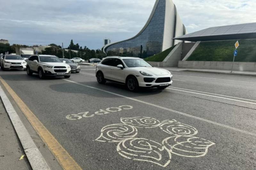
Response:
POLYGON ((198 138, 197 129, 176 120, 159 120, 151 117, 121 118, 122 124, 111 124, 101 129, 99 142, 118 143, 116 151, 124 158, 146 161, 166 167, 172 154, 183 157, 203 157, 215 143, 198 138), (162 143, 136 138, 139 128, 160 128, 167 138, 162 143))

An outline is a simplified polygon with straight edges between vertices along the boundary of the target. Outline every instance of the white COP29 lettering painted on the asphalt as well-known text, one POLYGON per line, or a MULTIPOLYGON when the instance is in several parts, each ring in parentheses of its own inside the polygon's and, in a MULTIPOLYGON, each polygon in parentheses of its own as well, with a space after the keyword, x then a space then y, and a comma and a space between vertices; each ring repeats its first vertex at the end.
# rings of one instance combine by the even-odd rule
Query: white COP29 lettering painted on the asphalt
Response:
POLYGON ((118 106, 118 107, 110 107, 105 110, 100 109, 99 111, 96 111, 94 114, 90 114, 89 111, 82 112, 82 113, 77 113, 77 114, 71 114, 67 115, 66 118, 68 120, 80 120, 82 118, 89 118, 89 117, 94 117, 96 115, 105 115, 113 112, 118 112, 122 110, 130 110, 133 109, 132 106, 129 105, 123 105, 123 106, 118 106))

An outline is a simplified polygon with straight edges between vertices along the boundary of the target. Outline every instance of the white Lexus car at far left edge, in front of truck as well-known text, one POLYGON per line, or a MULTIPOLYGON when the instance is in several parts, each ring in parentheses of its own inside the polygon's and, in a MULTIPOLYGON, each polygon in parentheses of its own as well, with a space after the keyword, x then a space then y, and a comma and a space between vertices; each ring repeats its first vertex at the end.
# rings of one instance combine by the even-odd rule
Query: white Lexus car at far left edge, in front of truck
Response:
POLYGON ((4 55, 0 60, 1 69, 27 69, 27 62, 20 55, 4 55))

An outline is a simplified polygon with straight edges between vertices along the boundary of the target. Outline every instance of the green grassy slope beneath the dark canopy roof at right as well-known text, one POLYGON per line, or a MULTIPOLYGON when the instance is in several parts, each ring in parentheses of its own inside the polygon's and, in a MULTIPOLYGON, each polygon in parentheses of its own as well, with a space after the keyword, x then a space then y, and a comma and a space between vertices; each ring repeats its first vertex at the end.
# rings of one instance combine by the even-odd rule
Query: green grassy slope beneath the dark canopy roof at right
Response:
MULTIPOLYGON (((201 42, 187 61, 233 61, 236 40, 201 42)), ((256 39, 239 40, 236 62, 256 62, 256 39)))

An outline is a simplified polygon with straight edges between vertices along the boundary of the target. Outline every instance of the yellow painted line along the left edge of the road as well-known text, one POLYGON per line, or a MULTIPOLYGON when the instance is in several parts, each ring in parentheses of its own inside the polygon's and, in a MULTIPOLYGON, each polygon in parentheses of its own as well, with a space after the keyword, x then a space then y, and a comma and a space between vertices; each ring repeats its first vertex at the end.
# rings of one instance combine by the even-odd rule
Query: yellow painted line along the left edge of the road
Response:
POLYGON ((68 152, 60 145, 60 143, 52 136, 52 134, 44 127, 44 125, 37 119, 34 113, 29 110, 28 106, 20 99, 20 97, 12 90, 12 88, 0 76, 0 81, 3 83, 5 89, 12 96, 17 103, 20 110, 27 117, 30 124, 36 130, 37 134, 42 138, 44 143, 48 146, 52 154, 58 160, 63 169, 66 170, 81 170, 82 168, 76 161, 68 154, 68 152))

